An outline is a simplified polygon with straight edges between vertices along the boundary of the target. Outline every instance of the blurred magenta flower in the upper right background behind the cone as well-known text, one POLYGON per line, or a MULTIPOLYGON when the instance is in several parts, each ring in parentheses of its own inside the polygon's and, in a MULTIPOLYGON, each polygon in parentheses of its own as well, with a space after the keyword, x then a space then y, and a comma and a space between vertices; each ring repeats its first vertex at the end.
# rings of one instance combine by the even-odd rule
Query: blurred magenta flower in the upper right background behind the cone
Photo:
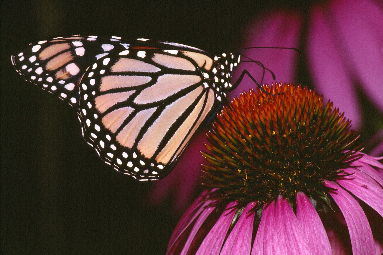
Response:
MULTIPOLYGON (((331 98, 359 129, 362 102, 358 89, 383 113, 383 4, 375 0, 329 0, 314 2, 306 11, 308 14, 287 10, 263 13, 245 32, 244 47, 299 49, 317 92, 324 95, 325 101, 331 98)), ((245 54, 271 69, 277 82, 300 82, 299 56, 295 51, 252 49, 245 54)), ((254 71, 254 77, 262 77, 260 68, 244 63, 234 80, 243 69, 254 71)), ((263 82, 274 81, 266 73, 263 82)), ((244 81, 230 96, 250 88, 254 88, 254 83, 244 81)))

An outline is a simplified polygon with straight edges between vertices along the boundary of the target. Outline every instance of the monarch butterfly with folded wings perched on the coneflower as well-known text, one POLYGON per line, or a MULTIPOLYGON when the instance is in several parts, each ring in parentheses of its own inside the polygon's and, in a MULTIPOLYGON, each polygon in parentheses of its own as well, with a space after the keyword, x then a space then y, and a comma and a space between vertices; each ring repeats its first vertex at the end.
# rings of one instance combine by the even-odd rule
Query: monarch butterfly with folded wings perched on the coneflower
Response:
POLYGON ((27 81, 77 110, 83 137, 101 159, 138 180, 157 180, 236 87, 230 79, 240 56, 74 35, 30 44, 11 59, 27 81))

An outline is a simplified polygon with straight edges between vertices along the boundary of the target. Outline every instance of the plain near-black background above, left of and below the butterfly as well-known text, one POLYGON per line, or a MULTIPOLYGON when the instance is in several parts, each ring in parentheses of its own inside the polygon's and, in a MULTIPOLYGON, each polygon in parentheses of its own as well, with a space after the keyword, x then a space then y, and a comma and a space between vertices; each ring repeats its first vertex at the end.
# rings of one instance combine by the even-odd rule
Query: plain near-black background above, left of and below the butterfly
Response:
POLYGON ((162 254, 177 223, 150 183, 103 163, 74 109, 26 82, 10 56, 48 36, 151 38, 239 49, 253 1, 3 1, 1 245, 5 254, 162 254), (138 2, 138 3, 136 3, 138 2))

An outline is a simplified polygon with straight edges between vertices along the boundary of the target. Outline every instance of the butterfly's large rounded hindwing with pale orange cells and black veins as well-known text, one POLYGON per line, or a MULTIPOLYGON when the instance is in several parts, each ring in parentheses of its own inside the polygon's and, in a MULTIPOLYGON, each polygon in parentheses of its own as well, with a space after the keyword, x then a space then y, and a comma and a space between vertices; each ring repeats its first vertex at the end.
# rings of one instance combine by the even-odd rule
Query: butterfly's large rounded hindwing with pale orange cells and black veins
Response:
POLYGON ((214 112, 212 67, 193 49, 130 47, 101 57, 80 84, 85 140, 119 172, 137 180, 165 177, 214 112))

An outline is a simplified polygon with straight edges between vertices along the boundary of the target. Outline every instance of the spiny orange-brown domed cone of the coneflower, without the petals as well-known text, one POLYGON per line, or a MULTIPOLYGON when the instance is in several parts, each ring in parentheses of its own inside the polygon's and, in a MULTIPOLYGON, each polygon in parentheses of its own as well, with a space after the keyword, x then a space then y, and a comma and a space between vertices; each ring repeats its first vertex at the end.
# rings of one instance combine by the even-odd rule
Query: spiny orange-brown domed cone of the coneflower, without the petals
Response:
POLYGON ((203 152, 203 184, 219 188, 214 199, 239 204, 279 194, 294 203, 297 191, 326 200, 323 180, 344 176, 360 150, 350 121, 307 87, 263 88, 241 93, 217 114, 205 144, 210 152, 203 152))

